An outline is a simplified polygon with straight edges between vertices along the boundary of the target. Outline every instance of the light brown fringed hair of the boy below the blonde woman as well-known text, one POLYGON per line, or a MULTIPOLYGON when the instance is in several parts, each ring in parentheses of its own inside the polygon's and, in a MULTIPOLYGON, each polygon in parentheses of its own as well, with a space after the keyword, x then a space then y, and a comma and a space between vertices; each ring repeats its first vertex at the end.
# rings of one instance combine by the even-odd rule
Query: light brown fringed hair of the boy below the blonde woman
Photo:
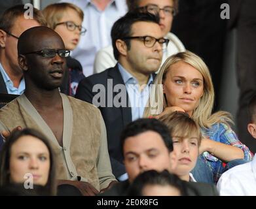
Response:
POLYGON ((198 139, 198 147, 200 146, 202 140, 200 127, 187 113, 175 111, 170 114, 164 114, 158 120, 168 127, 171 137, 196 137, 198 139))

